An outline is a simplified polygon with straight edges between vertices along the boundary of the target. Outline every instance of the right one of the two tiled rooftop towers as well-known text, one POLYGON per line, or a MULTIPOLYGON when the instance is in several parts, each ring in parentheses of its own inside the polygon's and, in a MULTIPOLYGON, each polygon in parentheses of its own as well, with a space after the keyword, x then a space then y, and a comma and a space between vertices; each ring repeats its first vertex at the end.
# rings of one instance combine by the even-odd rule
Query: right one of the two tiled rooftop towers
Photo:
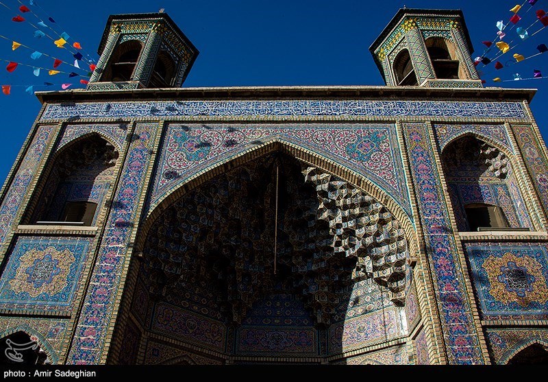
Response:
POLYGON ((460 10, 402 8, 369 51, 388 86, 483 87, 460 10))

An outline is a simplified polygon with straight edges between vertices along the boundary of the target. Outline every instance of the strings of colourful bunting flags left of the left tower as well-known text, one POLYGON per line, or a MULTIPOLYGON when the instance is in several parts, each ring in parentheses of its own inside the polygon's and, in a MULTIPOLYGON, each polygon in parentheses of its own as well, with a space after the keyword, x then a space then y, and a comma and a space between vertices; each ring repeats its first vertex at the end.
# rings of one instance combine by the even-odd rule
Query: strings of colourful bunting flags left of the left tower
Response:
POLYGON ((89 82, 89 77, 91 77, 92 72, 96 69, 96 64, 95 60, 91 58, 86 51, 84 51, 81 43, 71 38, 68 33, 62 30, 60 31, 60 25, 56 23, 55 19, 49 16, 49 14, 47 14, 47 12, 45 12, 40 5, 38 5, 36 0, 28 0, 28 3, 23 3, 21 0, 16 0, 19 4, 18 7, 10 7, 10 5, 6 5, 4 1, 5 0, 0 1, 0 10, 8 10, 8 12, 11 13, 10 17, 13 23, 27 24, 34 28, 31 29, 31 31, 34 30, 34 32, 32 32, 32 35, 29 36, 31 40, 35 38, 38 42, 43 38, 47 38, 52 42, 52 45, 50 45, 52 49, 60 48, 71 54, 71 60, 67 60, 66 58, 58 58, 58 53, 48 53, 47 47, 45 49, 36 49, 31 46, 34 45, 32 43, 23 43, 19 39, 10 38, 0 34, 0 40, 7 40, 11 43, 12 51, 16 51, 21 48, 27 49, 30 52, 28 58, 33 60, 32 63, 27 63, 22 62, 21 59, 8 60, 5 58, 0 58, 0 62, 7 62, 5 70, 8 73, 14 73, 14 71, 16 71, 16 69, 21 65, 31 68, 35 77, 39 77, 42 72, 47 72, 47 75, 50 76, 64 73, 68 75, 69 78, 79 77, 79 81, 75 83, 67 82, 61 84, 53 84, 52 82, 26 85, 5 84, 1 85, 2 93, 4 95, 10 95, 12 88, 22 87, 25 88, 26 93, 32 95, 34 94, 34 88, 40 86, 60 86, 62 90, 65 90, 66 88, 76 84, 87 85, 89 82), (46 16, 41 16, 38 10, 46 16), (30 21, 29 16, 34 17, 36 21, 30 21), (45 58, 52 60, 50 64, 45 64, 45 58), (42 64, 38 64, 38 62, 42 62, 42 64), (62 70, 62 64, 69 66, 72 69, 70 71, 62 70))

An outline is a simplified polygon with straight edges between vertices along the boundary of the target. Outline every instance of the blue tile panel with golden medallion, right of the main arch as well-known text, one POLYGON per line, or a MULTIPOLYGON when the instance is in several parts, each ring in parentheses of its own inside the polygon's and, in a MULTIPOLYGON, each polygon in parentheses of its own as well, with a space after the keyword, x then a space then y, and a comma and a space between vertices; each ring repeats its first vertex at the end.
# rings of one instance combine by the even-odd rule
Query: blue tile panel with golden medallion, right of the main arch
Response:
POLYGON ((466 243, 482 317, 548 318, 548 249, 531 243, 466 243))

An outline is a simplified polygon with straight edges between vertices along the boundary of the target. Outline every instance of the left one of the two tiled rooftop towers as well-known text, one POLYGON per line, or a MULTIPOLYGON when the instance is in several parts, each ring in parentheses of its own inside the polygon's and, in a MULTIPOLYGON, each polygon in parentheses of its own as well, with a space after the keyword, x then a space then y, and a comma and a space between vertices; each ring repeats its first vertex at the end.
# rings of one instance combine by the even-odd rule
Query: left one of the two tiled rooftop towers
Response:
POLYGON ((87 90, 181 87, 198 50, 168 14, 110 16, 87 90))

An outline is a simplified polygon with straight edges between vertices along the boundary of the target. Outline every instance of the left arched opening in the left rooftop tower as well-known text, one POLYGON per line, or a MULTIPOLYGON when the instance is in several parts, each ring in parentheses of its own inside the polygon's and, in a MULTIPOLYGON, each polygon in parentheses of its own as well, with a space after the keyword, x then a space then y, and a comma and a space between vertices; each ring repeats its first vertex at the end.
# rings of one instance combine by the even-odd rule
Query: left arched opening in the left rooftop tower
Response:
POLYGON ((142 51, 139 40, 128 40, 117 45, 110 56, 108 65, 101 75, 103 82, 123 82, 133 80, 136 64, 142 51))

